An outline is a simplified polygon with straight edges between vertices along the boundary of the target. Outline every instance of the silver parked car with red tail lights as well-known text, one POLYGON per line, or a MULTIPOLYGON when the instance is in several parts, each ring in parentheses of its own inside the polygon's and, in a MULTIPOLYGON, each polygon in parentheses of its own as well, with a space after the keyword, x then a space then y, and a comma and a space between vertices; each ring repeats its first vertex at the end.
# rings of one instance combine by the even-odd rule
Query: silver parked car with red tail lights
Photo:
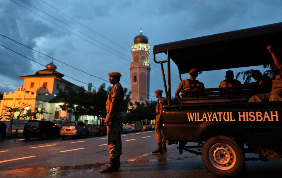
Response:
POLYGON ((80 136, 84 135, 88 137, 89 130, 81 121, 65 121, 61 127, 60 135, 62 139, 65 139, 66 136, 80 138, 80 136))

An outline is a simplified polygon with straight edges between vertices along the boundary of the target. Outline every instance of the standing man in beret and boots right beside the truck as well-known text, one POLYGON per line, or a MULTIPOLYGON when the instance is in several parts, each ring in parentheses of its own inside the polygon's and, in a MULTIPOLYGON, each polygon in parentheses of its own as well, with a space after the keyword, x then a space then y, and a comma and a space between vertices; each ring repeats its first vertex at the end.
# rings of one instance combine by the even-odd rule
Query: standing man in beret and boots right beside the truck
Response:
POLYGON ((158 148, 152 153, 166 153, 166 140, 163 137, 163 129, 161 123, 161 111, 163 110, 163 105, 166 105, 166 100, 162 97, 162 90, 156 90, 156 97, 158 98, 156 106, 156 126, 155 126, 155 136, 158 142, 158 148))

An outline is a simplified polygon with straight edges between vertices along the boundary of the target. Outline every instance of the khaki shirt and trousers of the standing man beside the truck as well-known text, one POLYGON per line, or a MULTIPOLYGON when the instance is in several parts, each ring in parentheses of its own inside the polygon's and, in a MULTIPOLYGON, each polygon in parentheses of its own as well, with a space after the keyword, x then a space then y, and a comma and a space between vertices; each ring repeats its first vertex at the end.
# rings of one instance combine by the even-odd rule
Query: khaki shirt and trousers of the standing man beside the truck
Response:
MULTIPOLYGON (((156 118, 159 117, 159 115, 161 114, 161 106, 166 105, 166 100, 161 97, 158 99, 157 101, 157 105, 156 105, 156 118)), ((156 122, 156 126, 155 126, 155 136, 156 136, 156 140, 158 143, 160 142, 166 142, 166 140, 164 139, 163 136, 163 129, 162 129, 162 123, 160 121, 159 124, 157 124, 156 122)))

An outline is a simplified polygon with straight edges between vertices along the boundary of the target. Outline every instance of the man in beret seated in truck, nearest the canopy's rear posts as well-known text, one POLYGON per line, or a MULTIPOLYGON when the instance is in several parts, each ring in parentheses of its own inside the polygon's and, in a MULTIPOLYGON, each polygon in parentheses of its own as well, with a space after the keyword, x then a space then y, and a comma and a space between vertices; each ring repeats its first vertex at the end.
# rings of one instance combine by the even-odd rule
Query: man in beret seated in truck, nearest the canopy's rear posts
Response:
POLYGON ((180 93, 181 90, 205 88, 205 86, 202 82, 199 82, 198 80, 196 80, 196 78, 198 76, 198 72, 199 72, 199 70, 196 69, 196 68, 191 69, 189 71, 190 78, 187 79, 187 80, 182 80, 179 83, 178 88, 176 89, 176 92, 175 92, 175 96, 176 96, 176 98, 178 99, 179 102, 180 102, 179 93, 180 93))

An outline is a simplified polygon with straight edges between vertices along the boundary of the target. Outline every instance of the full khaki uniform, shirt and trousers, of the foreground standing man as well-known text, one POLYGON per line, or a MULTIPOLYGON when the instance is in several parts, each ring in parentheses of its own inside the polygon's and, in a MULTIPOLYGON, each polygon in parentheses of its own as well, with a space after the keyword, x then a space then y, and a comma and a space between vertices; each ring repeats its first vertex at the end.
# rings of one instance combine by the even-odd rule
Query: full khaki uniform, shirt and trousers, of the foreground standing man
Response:
POLYGON ((106 102, 107 114, 110 110, 110 105, 113 98, 117 99, 116 109, 111 120, 111 125, 107 126, 107 144, 110 148, 110 158, 119 158, 121 155, 121 129, 122 129, 122 104, 124 91, 120 83, 115 84, 108 95, 106 102))

